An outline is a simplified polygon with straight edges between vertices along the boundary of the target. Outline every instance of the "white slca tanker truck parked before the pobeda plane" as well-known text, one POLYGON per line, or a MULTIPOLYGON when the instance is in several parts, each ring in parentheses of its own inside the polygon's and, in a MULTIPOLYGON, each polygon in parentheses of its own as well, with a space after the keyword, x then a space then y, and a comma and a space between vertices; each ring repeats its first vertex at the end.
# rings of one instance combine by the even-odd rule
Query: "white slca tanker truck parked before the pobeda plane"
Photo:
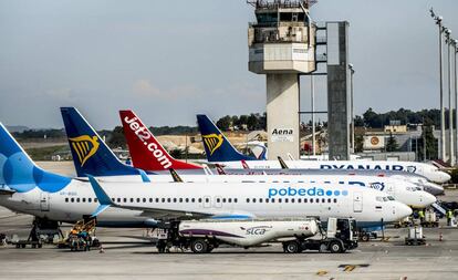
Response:
POLYGON ((235 247, 281 242, 284 252, 320 250, 345 252, 357 247, 354 219, 330 218, 323 231, 316 219, 283 220, 199 220, 166 222, 157 230, 157 249, 171 247, 196 253, 211 252, 220 245, 235 247), (313 238, 320 235, 321 238, 313 238))

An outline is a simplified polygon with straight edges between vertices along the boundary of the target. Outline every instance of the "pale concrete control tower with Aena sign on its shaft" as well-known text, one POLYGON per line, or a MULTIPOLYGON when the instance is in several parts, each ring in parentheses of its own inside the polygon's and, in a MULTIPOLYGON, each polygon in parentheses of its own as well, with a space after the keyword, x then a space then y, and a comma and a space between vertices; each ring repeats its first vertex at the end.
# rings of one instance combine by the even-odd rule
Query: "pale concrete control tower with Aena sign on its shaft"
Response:
POLYGON ((269 159, 299 158, 299 76, 316 68, 309 1, 248 2, 257 20, 248 28, 248 68, 266 74, 269 159))

